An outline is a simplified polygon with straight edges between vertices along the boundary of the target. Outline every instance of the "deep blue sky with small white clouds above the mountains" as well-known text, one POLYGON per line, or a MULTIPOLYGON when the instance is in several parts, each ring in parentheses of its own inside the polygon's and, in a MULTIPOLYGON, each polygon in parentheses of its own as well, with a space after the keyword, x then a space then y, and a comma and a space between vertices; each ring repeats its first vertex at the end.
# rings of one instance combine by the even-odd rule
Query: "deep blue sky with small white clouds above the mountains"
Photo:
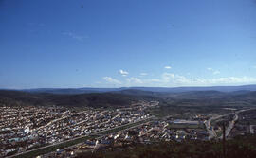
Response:
POLYGON ((0 88, 256 83, 254 0, 1 0, 0 88))

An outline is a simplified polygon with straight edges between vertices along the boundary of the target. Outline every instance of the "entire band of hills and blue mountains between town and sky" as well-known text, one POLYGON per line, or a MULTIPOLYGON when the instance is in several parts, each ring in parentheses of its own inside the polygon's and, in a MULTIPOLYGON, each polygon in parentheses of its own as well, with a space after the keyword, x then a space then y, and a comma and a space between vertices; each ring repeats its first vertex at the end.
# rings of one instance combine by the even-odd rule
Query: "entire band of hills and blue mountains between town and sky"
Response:
POLYGON ((256 85, 0 90, 0 106, 120 107, 140 100, 168 106, 254 106, 256 85))

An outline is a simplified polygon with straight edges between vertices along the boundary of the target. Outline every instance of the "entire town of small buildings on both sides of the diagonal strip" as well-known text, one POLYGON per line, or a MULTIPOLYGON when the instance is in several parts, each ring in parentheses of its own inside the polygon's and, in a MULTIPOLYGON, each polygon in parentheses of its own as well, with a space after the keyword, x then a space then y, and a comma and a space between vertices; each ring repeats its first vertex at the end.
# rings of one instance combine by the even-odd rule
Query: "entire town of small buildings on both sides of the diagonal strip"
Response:
MULTIPOLYGON (((228 114, 187 114, 155 117, 148 109, 158 108, 158 101, 140 101, 126 108, 103 109, 66 107, 0 107, 0 156, 12 157, 37 149, 58 147, 38 157, 76 157, 83 152, 121 149, 130 144, 158 141, 208 141, 254 133, 255 109, 228 109, 228 114)), ((226 109, 227 110, 227 109, 226 109)))

